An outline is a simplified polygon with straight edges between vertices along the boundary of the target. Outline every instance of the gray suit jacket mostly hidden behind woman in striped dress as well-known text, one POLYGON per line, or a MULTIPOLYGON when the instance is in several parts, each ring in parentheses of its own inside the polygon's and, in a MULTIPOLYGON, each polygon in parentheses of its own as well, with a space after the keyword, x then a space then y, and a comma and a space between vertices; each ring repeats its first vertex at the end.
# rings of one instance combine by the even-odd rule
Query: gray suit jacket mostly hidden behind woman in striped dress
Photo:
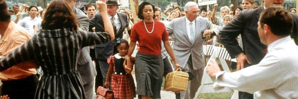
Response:
MULTIPOLYGON (((88 32, 89 18, 87 17, 87 15, 85 15, 83 11, 77 8, 74 8, 73 12, 75 13, 77 21, 80 24, 78 30, 88 32)), ((94 77, 97 74, 89 53, 89 46, 82 48, 77 61, 77 69, 79 70, 83 84, 87 84, 93 81, 94 77)))

